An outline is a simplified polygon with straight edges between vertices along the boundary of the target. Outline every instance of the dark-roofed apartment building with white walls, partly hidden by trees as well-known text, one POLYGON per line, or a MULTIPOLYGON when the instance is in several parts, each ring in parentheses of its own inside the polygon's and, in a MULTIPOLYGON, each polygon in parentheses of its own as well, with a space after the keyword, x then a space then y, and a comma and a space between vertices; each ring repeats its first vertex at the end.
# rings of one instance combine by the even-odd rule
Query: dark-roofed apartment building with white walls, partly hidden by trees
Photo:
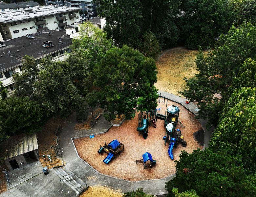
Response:
POLYGON ((72 40, 65 31, 44 30, 0 42, 0 81, 9 91, 13 90, 12 75, 22 71, 21 60, 25 55, 33 56, 39 63, 41 58, 63 61, 71 52, 72 40))

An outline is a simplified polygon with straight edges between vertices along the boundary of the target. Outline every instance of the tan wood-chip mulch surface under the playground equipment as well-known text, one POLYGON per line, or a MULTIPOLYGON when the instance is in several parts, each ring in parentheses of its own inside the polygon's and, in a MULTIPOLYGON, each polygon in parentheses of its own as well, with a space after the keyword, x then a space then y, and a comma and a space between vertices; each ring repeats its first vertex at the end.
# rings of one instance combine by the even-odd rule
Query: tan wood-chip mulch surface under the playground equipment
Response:
MULTIPOLYGON (((160 113, 165 114, 166 104, 164 105, 162 102, 158 104, 158 108, 161 108, 160 113)), ((174 160, 179 160, 179 154, 182 150, 193 152, 197 148, 202 149, 202 146, 193 137, 193 133, 202 129, 202 126, 195 116, 180 104, 168 101, 168 106, 170 105, 176 105, 180 108, 179 119, 185 126, 183 128, 178 124, 176 127, 176 129, 181 130, 181 134, 187 142, 187 147, 182 147, 179 142, 177 149, 173 149, 174 160)), ((100 173, 129 181, 166 178, 174 174, 175 163, 168 155, 169 142, 164 146, 162 139, 166 131, 164 121, 158 120, 156 122, 157 128, 154 128, 151 123, 148 137, 144 139, 141 134, 139 136, 137 131, 138 114, 131 120, 124 120, 121 126, 113 126, 107 133, 97 134, 92 139, 89 136, 74 139, 79 156, 100 173), (104 152, 99 155, 97 151, 100 145, 105 145, 105 141, 110 143, 113 139, 124 144, 124 152, 120 152, 120 155, 117 155, 116 159, 113 158, 107 165, 103 162, 107 153, 104 152), (157 161, 156 166, 144 169, 143 164, 136 165, 136 160, 142 159, 142 154, 145 152, 152 154, 153 159, 157 161)))

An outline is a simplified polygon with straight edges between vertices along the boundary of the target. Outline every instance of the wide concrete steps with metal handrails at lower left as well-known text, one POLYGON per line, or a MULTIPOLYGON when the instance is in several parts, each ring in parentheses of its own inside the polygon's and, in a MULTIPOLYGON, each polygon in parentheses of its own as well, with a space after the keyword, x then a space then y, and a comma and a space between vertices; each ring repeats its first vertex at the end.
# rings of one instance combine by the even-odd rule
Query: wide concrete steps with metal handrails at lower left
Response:
POLYGON ((75 192, 76 196, 78 196, 85 189, 73 178, 76 177, 75 174, 68 174, 60 167, 53 168, 52 170, 61 179, 61 182, 65 182, 75 192))

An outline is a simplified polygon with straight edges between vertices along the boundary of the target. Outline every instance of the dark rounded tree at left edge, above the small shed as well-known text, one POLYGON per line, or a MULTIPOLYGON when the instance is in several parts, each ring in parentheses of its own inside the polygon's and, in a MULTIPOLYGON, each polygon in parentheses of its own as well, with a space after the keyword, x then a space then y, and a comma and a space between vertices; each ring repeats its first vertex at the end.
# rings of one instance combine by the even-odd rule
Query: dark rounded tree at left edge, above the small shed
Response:
POLYGON ((40 105, 30 98, 11 96, 0 100, 1 138, 40 131, 43 110, 40 105))

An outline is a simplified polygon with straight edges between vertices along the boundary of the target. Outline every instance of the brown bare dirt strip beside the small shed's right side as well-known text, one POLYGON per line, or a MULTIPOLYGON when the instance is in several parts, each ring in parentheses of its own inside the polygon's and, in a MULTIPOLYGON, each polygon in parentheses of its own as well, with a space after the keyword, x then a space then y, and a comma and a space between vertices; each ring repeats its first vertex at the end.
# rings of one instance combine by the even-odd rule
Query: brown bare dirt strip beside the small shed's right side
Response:
POLYGON ((62 159, 57 158, 54 151, 54 146, 56 146, 57 139, 55 131, 58 125, 64 125, 64 121, 61 118, 50 118, 43 125, 42 132, 38 132, 36 134, 40 162, 43 167, 49 166, 49 169, 59 166, 60 163, 63 162, 62 159), (51 156, 52 162, 48 159, 48 154, 51 156), (46 156, 46 160, 44 160, 43 155, 46 156))

